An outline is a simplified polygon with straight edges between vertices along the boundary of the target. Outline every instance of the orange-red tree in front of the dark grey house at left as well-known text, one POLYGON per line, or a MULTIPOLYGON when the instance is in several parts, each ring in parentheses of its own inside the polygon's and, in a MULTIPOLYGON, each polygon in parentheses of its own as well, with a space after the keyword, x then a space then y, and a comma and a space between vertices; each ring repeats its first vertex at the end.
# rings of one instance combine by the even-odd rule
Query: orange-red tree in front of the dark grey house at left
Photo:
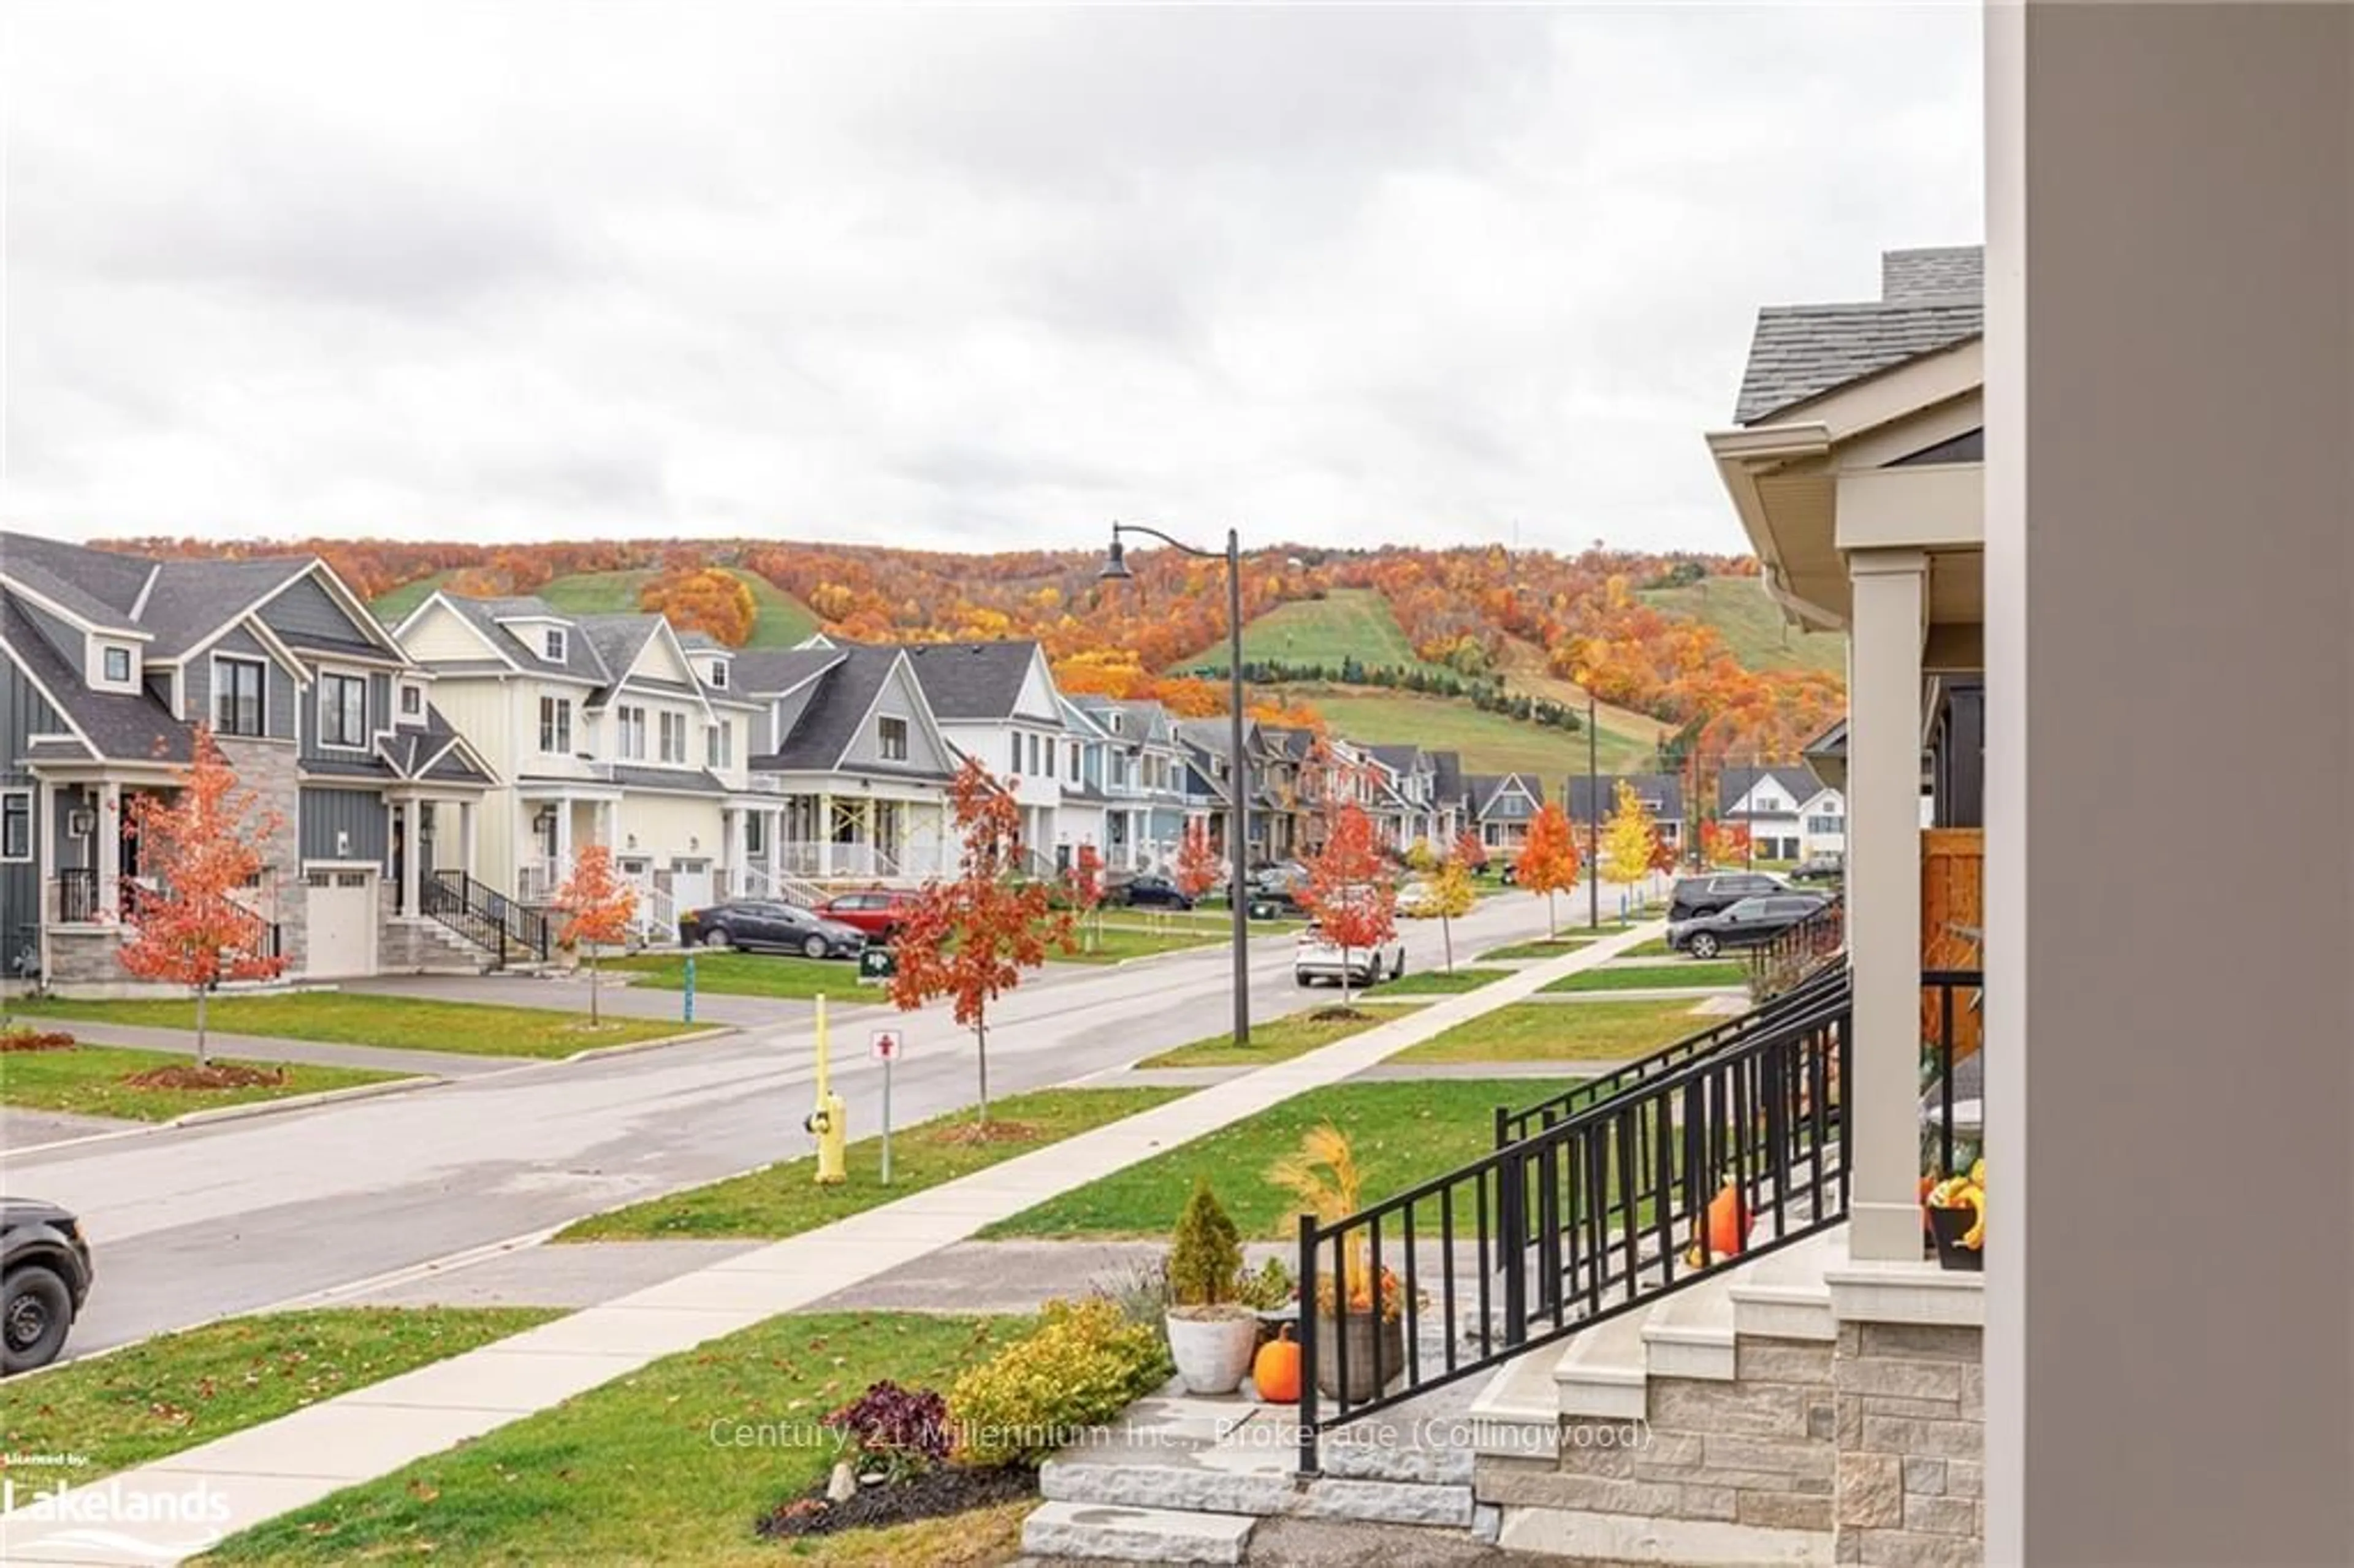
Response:
MULTIPOLYGON (((238 902, 264 871, 261 845, 282 817, 257 812, 254 791, 221 756, 212 730, 195 727, 195 749, 179 789, 129 800, 139 866, 151 888, 125 883, 125 937, 115 958, 139 979, 195 991, 195 1064, 212 1067, 205 1001, 224 979, 275 979, 287 961, 266 951, 268 923, 238 902)), ((104 831, 104 829, 101 829, 104 831)))

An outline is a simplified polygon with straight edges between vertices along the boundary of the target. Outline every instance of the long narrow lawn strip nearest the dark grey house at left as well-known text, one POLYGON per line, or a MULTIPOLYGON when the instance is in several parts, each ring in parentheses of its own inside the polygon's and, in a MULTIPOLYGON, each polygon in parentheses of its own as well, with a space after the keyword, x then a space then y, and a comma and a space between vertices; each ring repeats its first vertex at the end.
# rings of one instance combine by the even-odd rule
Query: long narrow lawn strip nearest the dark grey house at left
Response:
MULTIPOLYGON (((21 1017, 66 1017, 92 1024, 195 1031, 195 1003, 179 998, 139 1001, 12 1001, 21 1017)), ((280 1041, 330 1045, 388 1045, 395 1050, 454 1050, 478 1057, 570 1057, 598 1045, 629 1045, 680 1034, 673 1019, 607 1017, 588 1026, 586 1012, 556 1008, 492 1008, 445 1003, 421 996, 370 996, 365 991, 292 991, 268 996, 214 996, 205 1022, 219 1034, 261 1034, 280 1041)))

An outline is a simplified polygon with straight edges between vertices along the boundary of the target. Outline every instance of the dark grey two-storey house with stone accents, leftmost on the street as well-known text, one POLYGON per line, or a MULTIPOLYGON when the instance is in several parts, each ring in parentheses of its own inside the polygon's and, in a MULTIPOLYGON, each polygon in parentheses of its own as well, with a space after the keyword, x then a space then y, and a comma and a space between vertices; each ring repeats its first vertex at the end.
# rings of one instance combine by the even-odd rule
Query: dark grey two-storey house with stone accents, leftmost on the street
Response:
POLYGON ((177 789, 210 725, 254 822, 257 946, 330 979, 473 963, 421 913, 476 859, 497 777, 313 556, 151 560, 0 534, 0 937, 12 975, 108 986, 139 862, 132 800, 177 789), (271 930, 275 928, 275 930, 271 930))

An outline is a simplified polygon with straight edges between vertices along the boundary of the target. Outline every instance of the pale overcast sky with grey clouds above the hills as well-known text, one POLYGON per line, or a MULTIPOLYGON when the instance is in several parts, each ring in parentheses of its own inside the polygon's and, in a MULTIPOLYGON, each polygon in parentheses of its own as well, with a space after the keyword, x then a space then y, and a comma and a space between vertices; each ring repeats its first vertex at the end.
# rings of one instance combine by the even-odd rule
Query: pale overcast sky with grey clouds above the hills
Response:
POLYGON ((1730 551, 1756 306, 1982 238, 1975 0, 7 26, 68 537, 1730 551))

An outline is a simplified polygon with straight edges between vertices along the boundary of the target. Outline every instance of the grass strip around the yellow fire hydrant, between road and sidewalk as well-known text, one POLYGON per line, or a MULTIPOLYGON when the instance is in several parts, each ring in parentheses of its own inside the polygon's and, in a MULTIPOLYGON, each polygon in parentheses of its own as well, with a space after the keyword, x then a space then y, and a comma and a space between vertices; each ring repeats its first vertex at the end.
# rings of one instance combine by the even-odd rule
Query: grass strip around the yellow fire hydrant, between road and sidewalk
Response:
MULTIPOLYGON (((607 1215, 591 1215, 567 1227, 556 1241, 673 1241, 680 1236, 763 1236, 782 1238, 814 1231, 847 1215, 939 1187, 956 1177, 986 1170, 1017 1154, 1062 1142, 1073 1132, 1099 1128, 1156 1104, 1177 1099, 1175 1088, 1085 1088, 1033 1090, 989 1104, 991 1121, 1022 1123, 1029 1137, 986 1144, 958 1142, 951 1135, 972 1125, 972 1111, 951 1111, 911 1128, 895 1128, 890 1140, 890 1187, 883 1187, 883 1140, 862 1137, 850 1144, 850 1180, 819 1187, 814 1158, 782 1161, 749 1175, 690 1187, 664 1198, 631 1203, 607 1215)), ((852 1128, 855 1130, 855 1128, 852 1128)))

